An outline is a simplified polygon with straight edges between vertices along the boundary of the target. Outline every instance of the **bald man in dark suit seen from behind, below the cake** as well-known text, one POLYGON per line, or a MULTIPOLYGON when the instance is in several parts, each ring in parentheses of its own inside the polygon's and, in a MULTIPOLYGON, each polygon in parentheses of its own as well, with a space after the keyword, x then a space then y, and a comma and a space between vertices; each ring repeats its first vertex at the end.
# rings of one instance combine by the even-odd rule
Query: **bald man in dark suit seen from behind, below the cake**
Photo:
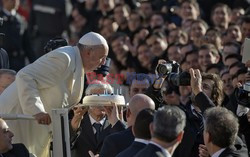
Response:
POLYGON ((126 112, 127 126, 124 131, 109 135, 103 143, 100 157, 115 157, 118 153, 129 147, 134 141, 132 127, 135 124, 137 114, 146 108, 155 109, 154 101, 145 94, 136 94, 129 101, 126 112))

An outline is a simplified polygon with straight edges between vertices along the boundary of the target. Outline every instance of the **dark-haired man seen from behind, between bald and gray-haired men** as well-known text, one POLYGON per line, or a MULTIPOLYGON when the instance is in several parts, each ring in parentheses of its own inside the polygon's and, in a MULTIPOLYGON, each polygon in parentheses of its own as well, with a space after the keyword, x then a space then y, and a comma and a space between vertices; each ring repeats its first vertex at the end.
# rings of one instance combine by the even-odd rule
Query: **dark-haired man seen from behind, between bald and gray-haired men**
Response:
POLYGON ((134 142, 116 157, 133 157, 141 149, 146 147, 151 138, 149 125, 153 122, 155 110, 144 109, 136 117, 135 125, 132 127, 135 136, 134 142))

